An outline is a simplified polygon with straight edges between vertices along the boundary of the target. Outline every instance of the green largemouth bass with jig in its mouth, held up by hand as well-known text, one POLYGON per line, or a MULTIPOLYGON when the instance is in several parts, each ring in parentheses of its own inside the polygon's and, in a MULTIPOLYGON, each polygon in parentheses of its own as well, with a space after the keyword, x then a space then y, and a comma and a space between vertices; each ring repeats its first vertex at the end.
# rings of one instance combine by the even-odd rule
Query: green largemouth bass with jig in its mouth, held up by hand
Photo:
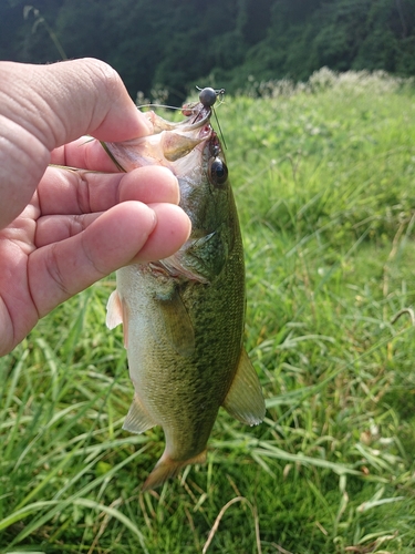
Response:
POLYGON ((107 302, 107 327, 123 324, 134 384, 123 429, 143 433, 160 425, 165 434, 164 453, 143 491, 206 461, 220 407, 248 425, 266 414, 242 343, 243 248, 225 155, 210 124, 217 95, 203 89, 198 102, 183 106, 180 122, 144 112, 153 134, 104 144, 121 171, 168 167, 191 220, 191 234, 176 254, 118 269, 107 302))

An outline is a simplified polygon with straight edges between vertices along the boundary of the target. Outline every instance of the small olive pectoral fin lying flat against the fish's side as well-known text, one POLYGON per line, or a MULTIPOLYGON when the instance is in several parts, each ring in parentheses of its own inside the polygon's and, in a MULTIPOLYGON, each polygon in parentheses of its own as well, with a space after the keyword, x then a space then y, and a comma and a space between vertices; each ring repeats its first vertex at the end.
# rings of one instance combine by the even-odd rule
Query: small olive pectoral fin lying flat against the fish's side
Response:
POLYGON ((158 297, 157 307, 167 340, 180 356, 191 356, 195 350, 195 329, 177 288, 167 298, 158 297))

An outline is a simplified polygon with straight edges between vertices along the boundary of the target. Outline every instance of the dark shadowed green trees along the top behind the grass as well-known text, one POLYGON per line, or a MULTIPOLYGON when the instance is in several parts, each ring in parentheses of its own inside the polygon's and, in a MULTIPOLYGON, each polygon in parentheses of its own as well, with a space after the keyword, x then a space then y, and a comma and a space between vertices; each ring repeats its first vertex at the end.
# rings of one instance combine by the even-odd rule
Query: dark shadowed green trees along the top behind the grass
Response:
POLYGON ((85 55, 116 68, 133 98, 166 89, 170 102, 323 65, 415 75, 415 0, 0 1, 0 59, 85 55))

